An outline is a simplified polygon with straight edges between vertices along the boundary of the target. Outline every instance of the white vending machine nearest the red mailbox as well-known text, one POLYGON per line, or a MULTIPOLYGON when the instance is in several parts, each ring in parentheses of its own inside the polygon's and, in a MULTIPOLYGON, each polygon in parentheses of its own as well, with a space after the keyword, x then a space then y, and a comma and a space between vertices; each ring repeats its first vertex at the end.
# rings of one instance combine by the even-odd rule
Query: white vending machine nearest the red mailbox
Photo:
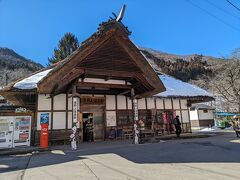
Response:
POLYGON ((15 116, 13 147, 30 146, 31 116, 15 116))

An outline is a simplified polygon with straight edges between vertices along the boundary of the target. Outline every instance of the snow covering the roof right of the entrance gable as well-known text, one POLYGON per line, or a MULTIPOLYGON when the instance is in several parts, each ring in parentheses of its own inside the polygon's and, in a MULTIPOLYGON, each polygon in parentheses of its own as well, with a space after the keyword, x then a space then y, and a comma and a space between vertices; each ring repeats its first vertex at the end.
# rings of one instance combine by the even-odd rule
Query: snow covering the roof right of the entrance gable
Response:
POLYGON ((168 75, 159 75, 160 80, 163 82, 166 91, 156 94, 158 97, 194 97, 194 96, 210 96, 204 89, 195 85, 183 82, 168 75))

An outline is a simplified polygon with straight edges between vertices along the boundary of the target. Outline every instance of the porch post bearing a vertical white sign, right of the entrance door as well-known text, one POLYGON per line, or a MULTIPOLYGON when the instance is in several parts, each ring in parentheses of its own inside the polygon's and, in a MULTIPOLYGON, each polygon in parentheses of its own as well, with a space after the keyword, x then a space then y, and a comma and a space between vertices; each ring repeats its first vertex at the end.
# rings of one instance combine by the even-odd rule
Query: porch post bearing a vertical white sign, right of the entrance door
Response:
POLYGON ((135 98, 134 89, 131 89, 131 98, 132 98, 132 111, 133 111, 133 120, 134 120, 134 144, 139 143, 139 131, 137 129, 138 121, 138 104, 137 99, 135 98))

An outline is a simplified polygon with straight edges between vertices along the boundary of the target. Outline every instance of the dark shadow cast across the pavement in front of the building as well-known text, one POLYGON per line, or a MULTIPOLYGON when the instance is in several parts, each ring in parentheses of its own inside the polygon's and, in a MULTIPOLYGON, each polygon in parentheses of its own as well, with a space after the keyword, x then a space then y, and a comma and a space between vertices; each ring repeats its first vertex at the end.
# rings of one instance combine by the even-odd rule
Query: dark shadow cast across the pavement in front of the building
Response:
MULTIPOLYGON (((240 138, 235 138, 233 133, 204 139, 182 139, 141 145, 134 145, 131 142, 99 142, 80 145, 77 151, 71 151, 66 146, 55 147, 55 149, 52 153, 4 157, 5 159, 0 157, 0 173, 16 171, 26 167, 37 168, 61 164, 88 159, 88 156, 91 157, 91 155, 104 156, 106 154, 115 154, 125 160, 139 164, 240 163, 240 138), (21 161, 22 166, 18 166, 21 161), (30 161, 31 163, 29 163, 30 161)), ((113 161, 112 163, 118 162, 113 161)))

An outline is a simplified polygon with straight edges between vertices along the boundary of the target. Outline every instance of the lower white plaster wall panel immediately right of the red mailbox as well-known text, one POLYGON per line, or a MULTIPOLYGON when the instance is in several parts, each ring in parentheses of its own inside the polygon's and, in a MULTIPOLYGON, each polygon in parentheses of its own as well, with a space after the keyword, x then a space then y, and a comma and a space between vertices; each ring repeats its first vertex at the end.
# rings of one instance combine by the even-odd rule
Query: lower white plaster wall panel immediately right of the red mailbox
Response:
POLYGON ((53 129, 65 129, 66 127, 66 113, 54 112, 53 113, 53 129))

